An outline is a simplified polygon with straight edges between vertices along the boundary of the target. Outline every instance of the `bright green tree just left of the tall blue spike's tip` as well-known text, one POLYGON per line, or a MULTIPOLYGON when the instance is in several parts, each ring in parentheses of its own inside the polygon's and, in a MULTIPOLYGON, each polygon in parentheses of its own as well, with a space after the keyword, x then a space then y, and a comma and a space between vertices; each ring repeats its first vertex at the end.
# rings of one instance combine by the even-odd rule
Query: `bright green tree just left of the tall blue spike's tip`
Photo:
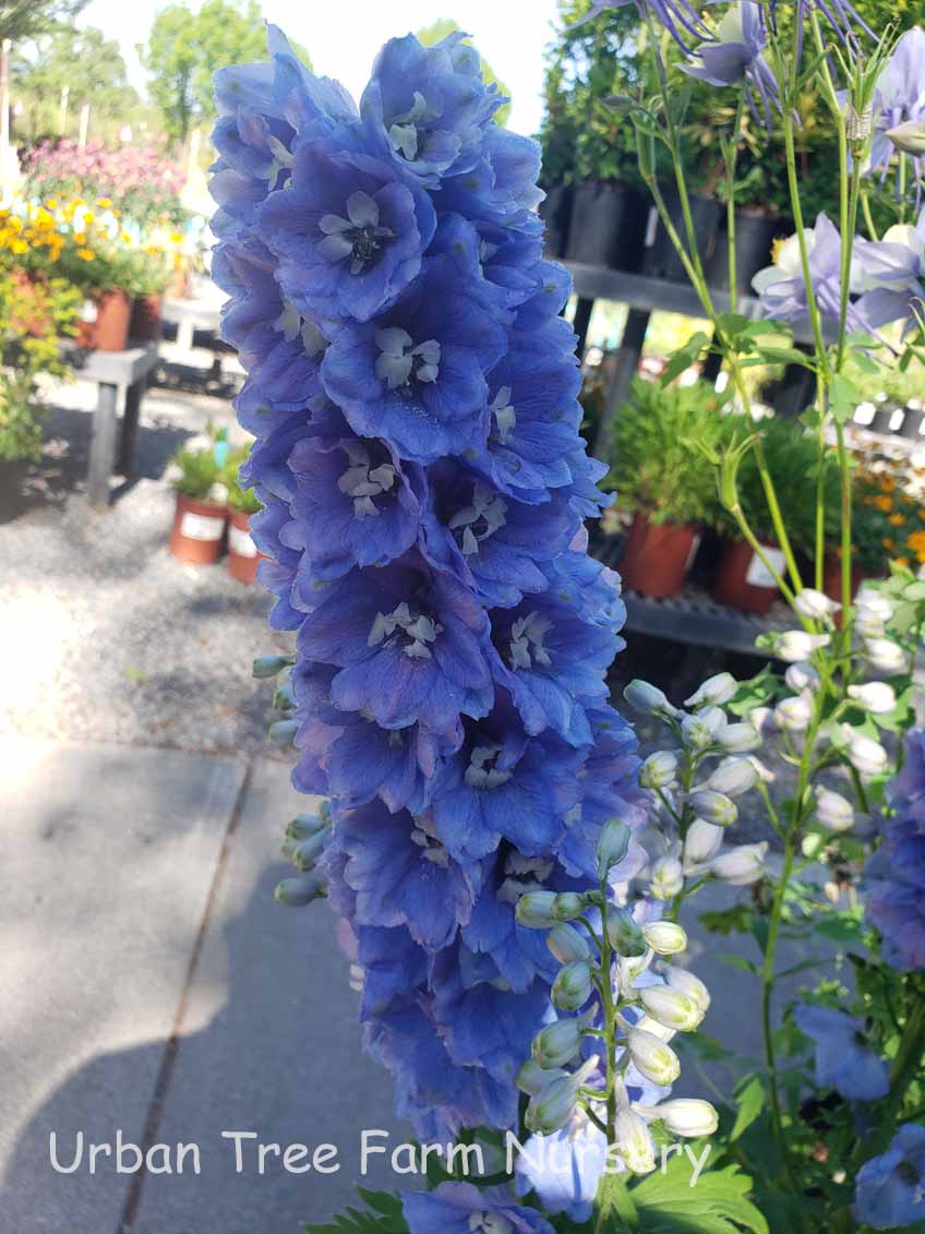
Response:
MULTIPOLYGON (((298 44, 306 64, 308 57, 298 44)), ((138 56, 150 74, 150 97, 168 136, 186 141, 190 132, 215 118, 212 74, 224 64, 242 64, 266 56, 266 27, 257 0, 205 0, 194 10, 183 0, 154 19, 138 56)))

